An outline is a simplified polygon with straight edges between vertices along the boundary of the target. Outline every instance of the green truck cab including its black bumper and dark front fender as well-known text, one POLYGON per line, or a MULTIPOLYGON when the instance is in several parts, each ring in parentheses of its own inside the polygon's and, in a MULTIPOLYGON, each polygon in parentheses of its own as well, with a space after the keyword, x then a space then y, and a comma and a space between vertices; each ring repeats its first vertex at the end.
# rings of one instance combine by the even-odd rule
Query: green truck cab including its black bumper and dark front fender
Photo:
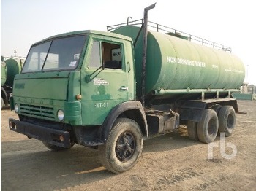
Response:
POLYGON ((110 127, 124 114, 146 124, 143 107, 135 101, 132 55, 132 39, 99 31, 33 44, 15 77, 11 106, 20 120, 10 119, 11 130, 58 150, 75 143, 105 144, 110 127))

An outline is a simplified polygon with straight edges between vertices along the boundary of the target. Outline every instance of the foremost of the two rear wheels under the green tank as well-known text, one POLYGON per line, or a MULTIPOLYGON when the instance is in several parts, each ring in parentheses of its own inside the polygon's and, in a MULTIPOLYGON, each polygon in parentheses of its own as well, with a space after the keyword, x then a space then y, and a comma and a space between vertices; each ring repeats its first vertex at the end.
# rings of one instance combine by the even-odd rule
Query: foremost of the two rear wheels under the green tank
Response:
POLYGON ((212 109, 204 109, 202 120, 197 124, 197 136, 203 143, 211 143, 215 140, 219 128, 217 113, 212 109))

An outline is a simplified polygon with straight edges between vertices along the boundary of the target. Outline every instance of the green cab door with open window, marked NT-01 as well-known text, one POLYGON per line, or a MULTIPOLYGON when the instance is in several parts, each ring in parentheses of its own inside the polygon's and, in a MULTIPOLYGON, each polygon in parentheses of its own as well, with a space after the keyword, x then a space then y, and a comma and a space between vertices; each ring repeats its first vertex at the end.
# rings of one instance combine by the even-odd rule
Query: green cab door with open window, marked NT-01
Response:
POLYGON ((101 125, 114 106, 129 100, 124 44, 92 38, 87 51, 81 71, 83 125, 101 125))

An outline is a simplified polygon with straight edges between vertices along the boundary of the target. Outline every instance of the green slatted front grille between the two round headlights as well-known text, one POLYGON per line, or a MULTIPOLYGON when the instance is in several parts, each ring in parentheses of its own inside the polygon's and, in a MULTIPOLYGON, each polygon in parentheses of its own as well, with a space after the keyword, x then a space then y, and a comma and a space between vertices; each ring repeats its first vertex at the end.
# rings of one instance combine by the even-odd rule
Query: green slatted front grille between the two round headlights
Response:
POLYGON ((29 104, 20 104, 20 114, 24 114, 30 117, 42 117, 44 119, 55 119, 54 111, 52 107, 35 106, 29 104))

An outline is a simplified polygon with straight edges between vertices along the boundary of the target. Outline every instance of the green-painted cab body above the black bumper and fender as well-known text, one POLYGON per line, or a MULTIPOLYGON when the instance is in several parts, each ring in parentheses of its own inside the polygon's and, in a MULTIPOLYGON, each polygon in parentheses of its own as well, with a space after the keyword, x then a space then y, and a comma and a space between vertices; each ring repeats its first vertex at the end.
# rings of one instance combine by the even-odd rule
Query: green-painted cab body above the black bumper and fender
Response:
POLYGON ((15 77, 12 106, 20 106, 19 114, 59 121, 57 112, 62 109, 65 123, 101 125, 117 104, 135 100, 132 41, 127 36, 99 31, 76 31, 37 42, 32 45, 31 51, 23 72, 15 77), (65 39, 59 39, 72 39, 72 36, 80 35, 86 36, 86 42, 82 50, 79 50, 79 46, 77 50, 69 47, 71 55, 74 55, 74 58, 69 56, 69 60, 62 59, 69 55, 69 52, 62 54, 61 51, 67 51, 65 47, 55 51, 48 43, 53 41, 51 44, 54 44, 58 39, 55 44, 65 44, 65 39), (93 46, 94 42, 98 42, 97 46, 93 46), (47 48, 42 44, 47 45, 47 48), (46 56, 47 52, 38 53, 39 50, 49 50, 49 47, 53 54, 52 60, 46 56), (96 60, 91 59, 95 48, 99 53, 96 60), (102 68, 103 62, 113 59, 118 60, 116 68, 109 68, 112 66, 108 67, 107 64, 105 69, 102 68), (64 62, 68 62, 66 66, 64 62), (45 66, 48 67, 47 70, 45 66), (77 100, 77 95, 81 95, 80 100, 77 100))

